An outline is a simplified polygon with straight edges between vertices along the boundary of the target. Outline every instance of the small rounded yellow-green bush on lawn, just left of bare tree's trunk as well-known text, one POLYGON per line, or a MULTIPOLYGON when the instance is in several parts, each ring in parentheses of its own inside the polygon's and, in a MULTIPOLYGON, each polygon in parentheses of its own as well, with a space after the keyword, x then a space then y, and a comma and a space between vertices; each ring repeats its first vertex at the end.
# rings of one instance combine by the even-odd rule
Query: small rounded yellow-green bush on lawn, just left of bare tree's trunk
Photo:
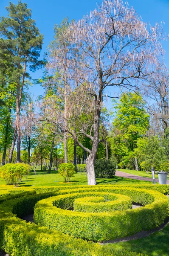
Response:
POLYGON ((72 163, 61 163, 58 171, 64 177, 65 182, 69 182, 70 177, 75 174, 75 166, 72 163))

